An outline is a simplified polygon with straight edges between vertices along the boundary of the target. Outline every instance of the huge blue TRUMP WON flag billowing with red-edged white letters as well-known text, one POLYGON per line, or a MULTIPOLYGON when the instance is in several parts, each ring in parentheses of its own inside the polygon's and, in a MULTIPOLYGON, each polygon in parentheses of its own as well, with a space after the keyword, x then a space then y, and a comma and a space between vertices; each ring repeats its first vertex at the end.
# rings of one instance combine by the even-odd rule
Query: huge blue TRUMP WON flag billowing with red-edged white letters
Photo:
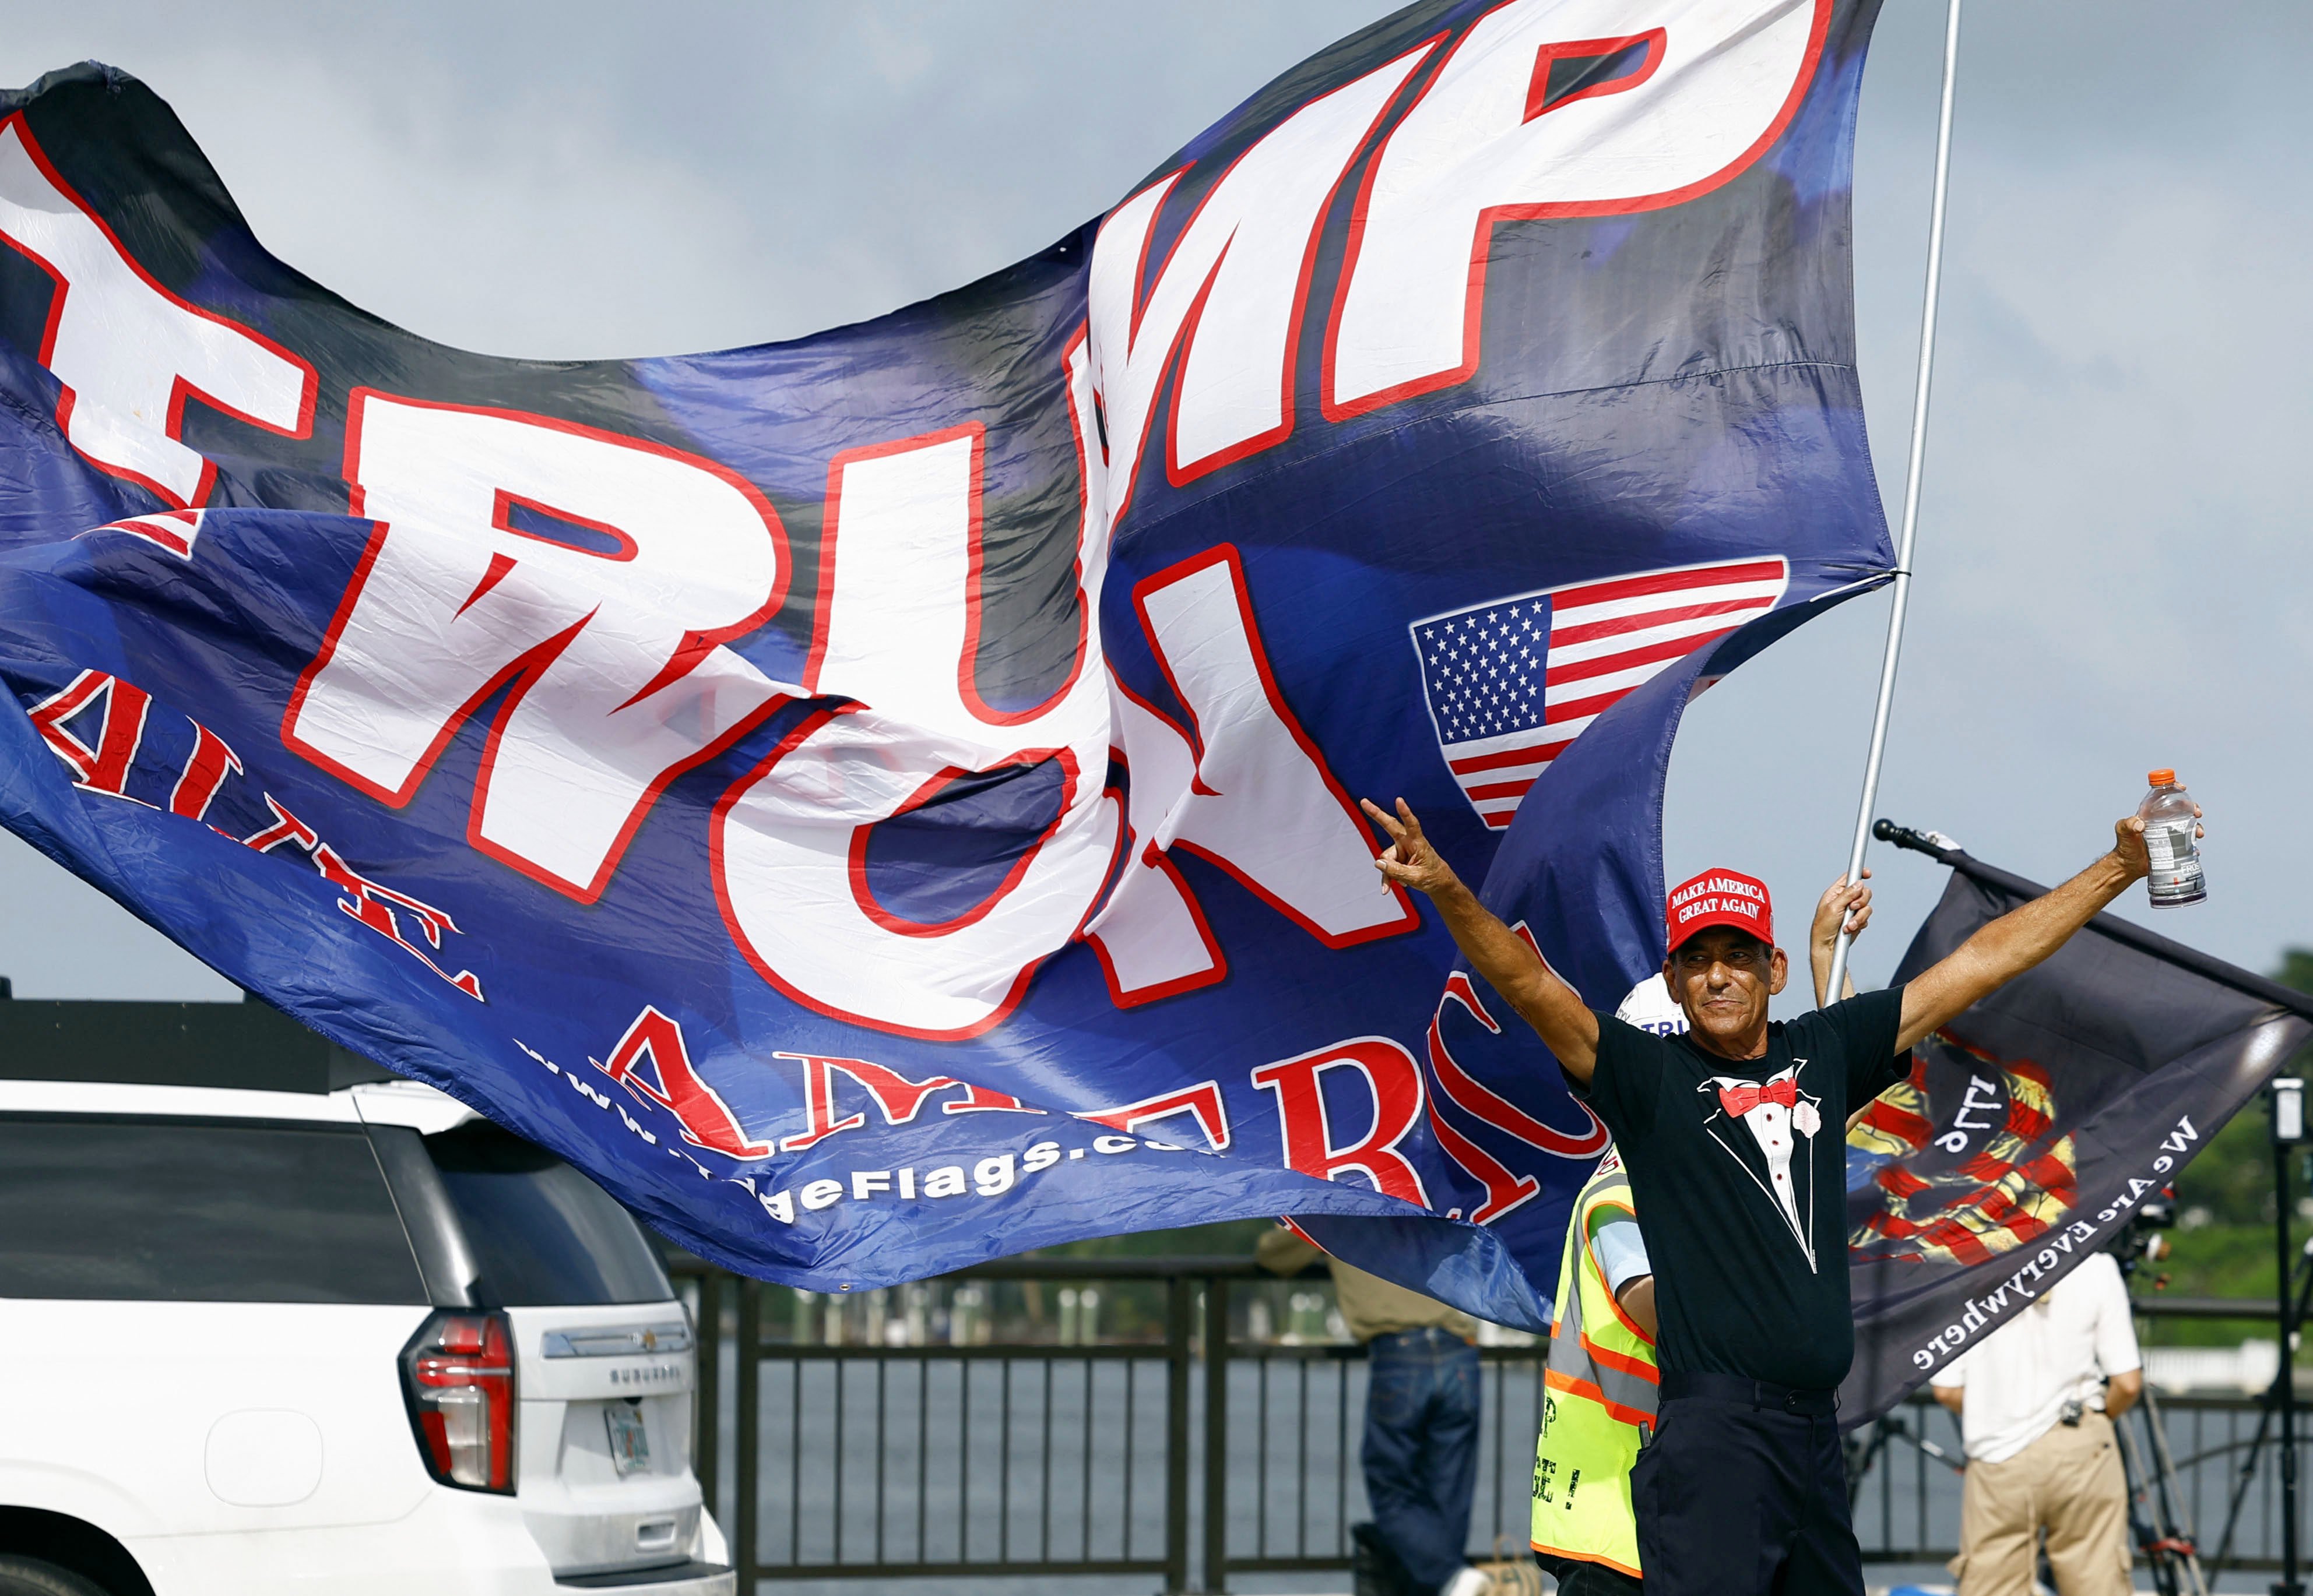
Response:
POLYGON ((1874 12, 1416 5, 971 287, 588 363, 354 310, 51 74, 0 819, 749 1274, 1298 1214, 1540 1328, 1603 1131, 1353 800, 1656 967, 1682 708, 1890 564, 1874 12))

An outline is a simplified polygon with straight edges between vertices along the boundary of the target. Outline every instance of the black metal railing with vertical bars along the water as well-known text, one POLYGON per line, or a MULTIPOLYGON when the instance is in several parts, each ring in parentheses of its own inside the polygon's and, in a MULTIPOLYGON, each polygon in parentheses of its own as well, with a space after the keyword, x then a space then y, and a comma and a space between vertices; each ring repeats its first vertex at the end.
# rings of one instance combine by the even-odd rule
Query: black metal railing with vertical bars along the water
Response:
MULTIPOLYGON (((1268 1339, 1274 1314, 1265 1305, 1281 1288, 1244 1258, 981 1265, 934 1286, 951 1305, 944 1344, 925 1332, 921 1302, 914 1321, 886 1321, 895 1344, 828 1344, 803 1332, 816 1335, 816 1314, 833 1305, 847 1314, 837 1325, 851 1325, 840 1332, 858 1337, 858 1307, 703 1265, 675 1274, 699 1325, 696 1469, 729 1531, 740 1589, 752 1580, 1159 1575, 1166 1591, 1221 1591, 1231 1573, 1351 1561, 1351 1524, 1367 1515, 1358 1464, 1365 1353, 1332 1339, 1268 1339), (1029 1300, 1045 1286, 1076 1298, 1138 1293, 1129 1300, 1143 1311, 1129 1332, 1140 1339, 1029 1342, 1020 1323, 995 1339, 985 1298, 997 1281, 1029 1300), (766 1314, 775 1291, 789 1298, 789 1323, 766 1314)), ((1323 1272, 1295 1286, 1321 1291, 1323 1272)), ((2188 1316, 2214 1311, 2186 1307, 2188 1316)), ((1080 1314, 1089 1325, 1089 1302, 1080 1314)), ((1045 1318, 1043 1332, 1052 1328, 1045 1318)), ((1071 1309, 1057 1330, 1071 1335, 1071 1309)), ((1480 1349, 1473 1554, 1527 1545, 1540 1360, 1540 1344, 1480 1349)), ((2260 1404, 2172 1397, 2160 1406, 2177 1497, 2207 1554, 2260 1404)), ((1862 1552, 1943 1561, 1959 1540, 1959 1473, 1917 1443, 1957 1457, 1957 1423, 1922 1395, 1887 1429, 1855 1499, 1862 1552)), ((2278 1564, 2271 1450, 2244 1501, 2230 1566, 2278 1564)), ((2313 1471, 2301 1462, 2299 1476, 2313 1471)))

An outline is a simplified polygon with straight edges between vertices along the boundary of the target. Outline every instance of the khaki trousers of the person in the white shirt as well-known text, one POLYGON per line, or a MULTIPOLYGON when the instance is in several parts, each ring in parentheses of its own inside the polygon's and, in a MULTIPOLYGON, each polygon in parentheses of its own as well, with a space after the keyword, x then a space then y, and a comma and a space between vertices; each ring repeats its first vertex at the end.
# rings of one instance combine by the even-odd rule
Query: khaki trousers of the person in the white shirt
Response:
POLYGON ((1971 1462, 1959 1506, 1959 1596, 2029 1596, 2040 1529, 2063 1596, 2126 1596, 2128 1483, 2112 1420, 2052 1425, 2008 1462, 1971 1462))

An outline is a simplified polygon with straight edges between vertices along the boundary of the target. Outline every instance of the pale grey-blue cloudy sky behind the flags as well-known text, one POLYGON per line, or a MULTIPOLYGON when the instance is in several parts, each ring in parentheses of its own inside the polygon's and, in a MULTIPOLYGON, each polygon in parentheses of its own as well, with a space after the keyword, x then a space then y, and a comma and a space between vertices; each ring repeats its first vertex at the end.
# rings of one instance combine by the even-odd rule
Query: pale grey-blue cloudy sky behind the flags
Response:
MULTIPOLYGON (((1631 0, 1642 9, 1642 0, 1631 0)), ((625 356, 789 338, 967 282, 1096 215, 1367 0, 599 0, 199 7, 0 0, 0 81, 99 58, 153 83, 259 238, 428 338, 625 356)), ((2299 511, 2313 7, 1973 7, 1945 322, 1880 812, 2054 881, 2149 766, 2209 807, 2211 902, 2153 916, 2267 967, 2313 944, 2313 615, 2299 511)), ((1941 0, 1887 0, 1855 275, 1901 497, 1941 0)), ((1846 860, 1885 597, 1688 715, 1672 879, 1802 900, 1846 860)), ((1885 978, 1943 872, 1876 849, 1885 978)), ((0 837, 23 997, 234 990, 0 837)))

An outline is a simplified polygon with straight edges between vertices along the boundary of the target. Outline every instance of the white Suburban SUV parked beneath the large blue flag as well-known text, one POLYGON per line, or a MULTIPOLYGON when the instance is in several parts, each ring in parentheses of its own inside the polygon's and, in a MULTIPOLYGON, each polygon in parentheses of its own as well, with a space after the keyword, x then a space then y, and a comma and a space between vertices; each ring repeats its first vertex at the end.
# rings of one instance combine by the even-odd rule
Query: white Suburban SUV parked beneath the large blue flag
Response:
POLYGON ((650 1242, 421 1085, 0 1080, 0 1596, 736 1589, 650 1242))

